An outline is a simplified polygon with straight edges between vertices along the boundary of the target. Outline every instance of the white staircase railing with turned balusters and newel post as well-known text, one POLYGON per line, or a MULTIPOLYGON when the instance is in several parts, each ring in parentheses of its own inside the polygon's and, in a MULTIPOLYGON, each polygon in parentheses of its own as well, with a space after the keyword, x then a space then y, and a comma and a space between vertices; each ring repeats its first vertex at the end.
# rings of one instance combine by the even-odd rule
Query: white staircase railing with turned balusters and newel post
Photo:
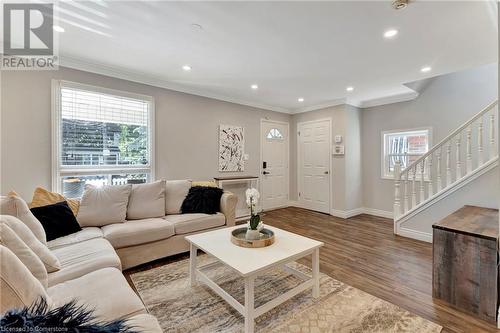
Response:
MULTIPOLYGON (((394 167, 394 233, 430 206, 498 165, 498 100, 486 106, 425 155, 394 167)), ((451 211, 450 211, 451 213, 451 211)))

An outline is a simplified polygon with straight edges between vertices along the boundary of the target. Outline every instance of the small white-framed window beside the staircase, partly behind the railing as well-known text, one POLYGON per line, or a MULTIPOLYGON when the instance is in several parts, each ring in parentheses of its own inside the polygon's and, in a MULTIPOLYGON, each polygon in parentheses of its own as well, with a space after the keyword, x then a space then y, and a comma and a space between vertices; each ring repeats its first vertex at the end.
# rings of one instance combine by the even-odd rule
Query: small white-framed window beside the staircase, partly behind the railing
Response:
POLYGON ((394 178, 396 161, 401 169, 427 153, 431 145, 431 129, 382 133, 382 178, 394 178))

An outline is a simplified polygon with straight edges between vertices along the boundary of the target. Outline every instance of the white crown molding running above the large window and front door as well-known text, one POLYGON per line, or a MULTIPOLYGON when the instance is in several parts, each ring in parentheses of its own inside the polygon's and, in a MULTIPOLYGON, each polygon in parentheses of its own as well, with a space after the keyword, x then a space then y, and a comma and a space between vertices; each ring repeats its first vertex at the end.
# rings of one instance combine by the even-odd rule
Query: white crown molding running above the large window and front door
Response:
POLYGON ((105 76, 110 76, 113 78, 123 79, 127 81, 132 81, 136 83, 147 84, 154 87, 164 88, 168 90, 178 91, 190 95, 196 95, 201 97, 207 97, 211 99, 216 99, 224 102, 240 104, 245 106, 250 106, 257 109, 263 109, 268 111, 275 111, 280 113, 291 114, 289 109, 271 106, 266 104, 254 103, 245 101, 238 98, 232 98, 212 92, 203 91, 196 88, 186 87, 184 85, 169 82, 167 80, 155 77, 152 75, 146 75, 143 73, 130 71, 127 69, 119 68, 116 66, 109 66, 102 63, 90 62, 86 60, 81 60, 75 57, 61 55, 59 57, 59 65, 62 67, 68 67, 72 69, 77 69, 85 72, 90 72, 94 74, 100 74, 105 76))

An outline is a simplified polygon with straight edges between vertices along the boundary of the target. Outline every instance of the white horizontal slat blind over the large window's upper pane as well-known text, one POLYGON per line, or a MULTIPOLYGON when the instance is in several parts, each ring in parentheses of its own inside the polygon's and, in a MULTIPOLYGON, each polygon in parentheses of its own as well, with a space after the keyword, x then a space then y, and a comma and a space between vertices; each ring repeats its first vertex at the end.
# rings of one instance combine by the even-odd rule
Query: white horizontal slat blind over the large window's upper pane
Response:
POLYGON ((60 89, 61 166, 148 165, 147 100, 60 89))

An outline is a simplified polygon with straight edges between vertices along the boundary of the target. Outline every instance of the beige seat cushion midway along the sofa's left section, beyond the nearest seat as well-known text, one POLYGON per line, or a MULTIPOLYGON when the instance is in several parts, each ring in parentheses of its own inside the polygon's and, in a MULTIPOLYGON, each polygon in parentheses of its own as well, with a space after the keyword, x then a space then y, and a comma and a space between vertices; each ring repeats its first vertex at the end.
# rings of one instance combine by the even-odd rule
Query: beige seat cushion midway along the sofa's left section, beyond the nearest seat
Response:
POLYGON ((121 270, 120 258, 113 246, 104 238, 59 247, 52 252, 61 262, 61 269, 49 273, 49 286, 79 278, 102 268, 113 267, 121 270))

